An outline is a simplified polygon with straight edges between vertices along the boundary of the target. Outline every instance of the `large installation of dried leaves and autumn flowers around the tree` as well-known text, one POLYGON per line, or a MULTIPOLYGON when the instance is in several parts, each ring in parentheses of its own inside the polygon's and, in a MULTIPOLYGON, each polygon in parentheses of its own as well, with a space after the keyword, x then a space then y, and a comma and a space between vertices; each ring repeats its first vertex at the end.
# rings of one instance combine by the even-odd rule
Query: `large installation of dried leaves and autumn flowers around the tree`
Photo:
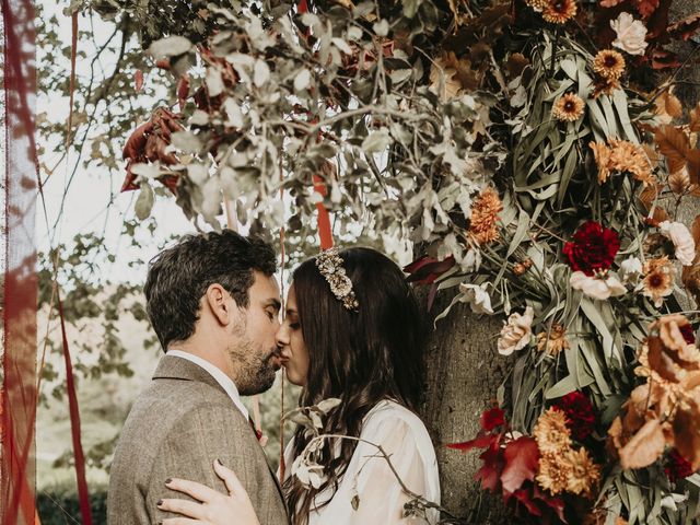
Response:
POLYGON ((672 20, 673 0, 233 3, 196 38, 147 39, 180 112, 125 148, 139 217, 160 180, 211 224, 230 195, 252 231, 299 233, 323 202, 410 238, 409 280, 431 305, 454 292, 436 323, 457 304, 505 319, 499 408, 455 445, 483 450, 481 487, 530 521, 691 523, 698 315, 680 303, 700 299, 700 218, 679 210, 700 196, 700 105, 674 88, 700 14, 672 20), (280 187, 292 218, 270 205, 280 187))

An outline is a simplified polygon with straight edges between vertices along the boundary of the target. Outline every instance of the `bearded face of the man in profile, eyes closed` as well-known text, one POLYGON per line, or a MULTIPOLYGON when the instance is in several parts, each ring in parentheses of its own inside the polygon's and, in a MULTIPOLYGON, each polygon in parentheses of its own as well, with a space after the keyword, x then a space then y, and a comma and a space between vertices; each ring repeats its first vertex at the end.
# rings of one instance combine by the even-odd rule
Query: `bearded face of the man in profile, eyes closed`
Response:
POLYGON ((248 308, 241 308, 241 323, 232 327, 229 357, 238 392, 252 396, 269 389, 281 360, 275 335, 280 327, 280 290, 275 277, 254 271, 248 308))

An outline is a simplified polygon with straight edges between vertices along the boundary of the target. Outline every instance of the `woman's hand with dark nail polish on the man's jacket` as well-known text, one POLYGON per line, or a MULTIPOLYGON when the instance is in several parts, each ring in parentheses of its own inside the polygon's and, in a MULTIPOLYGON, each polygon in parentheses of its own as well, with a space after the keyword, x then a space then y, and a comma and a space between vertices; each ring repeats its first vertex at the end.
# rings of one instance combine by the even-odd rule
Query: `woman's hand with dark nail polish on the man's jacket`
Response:
POLYGON ((186 479, 171 479, 165 486, 168 489, 190 495, 200 503, 189 500, 165 499, 159 500, 158 508, 180 514, 184 517, 168 517, 163 525, 259 525, 248 493, 241 485, 236 475, 217 459, 214 471, 229 489, 229 495, 195 481, 186 479))

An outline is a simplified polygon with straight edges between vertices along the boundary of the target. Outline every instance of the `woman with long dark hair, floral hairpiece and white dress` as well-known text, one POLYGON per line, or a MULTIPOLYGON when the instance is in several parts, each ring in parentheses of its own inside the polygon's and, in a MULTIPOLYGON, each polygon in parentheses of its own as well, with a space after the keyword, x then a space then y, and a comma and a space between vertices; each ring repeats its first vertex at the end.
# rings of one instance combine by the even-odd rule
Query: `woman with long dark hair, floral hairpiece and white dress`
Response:
MULTIPOLYGON (((363 440, 324 442, 320 464, 326 478, 318 488, 288 472, 282 487, 294 525, 425 523, 404 517, 412 498, 397 475, 411 492, 440 502, 434 450, 412 411, 422 390, 424 334, 404 273, 374 249, 327 250, 294 270, 277 336, 287 376, 304 387, 300 406, 341 400, 329 412, 324 433, 363 440), (370 443, 382 446, 392 466, 370 443)), ((296 430, 284 453, 288 465, 311 439, 304 428, 296 430)), ((257 523, 233 472, 221 465, 214 468, 231 494, 173 480, 168 488, 202 504, 164 500, 162 510, 195 518, 164 520, 164 525, 257 523)), ((434 510, 427 517, 430 523, 439 518, 434 510)))

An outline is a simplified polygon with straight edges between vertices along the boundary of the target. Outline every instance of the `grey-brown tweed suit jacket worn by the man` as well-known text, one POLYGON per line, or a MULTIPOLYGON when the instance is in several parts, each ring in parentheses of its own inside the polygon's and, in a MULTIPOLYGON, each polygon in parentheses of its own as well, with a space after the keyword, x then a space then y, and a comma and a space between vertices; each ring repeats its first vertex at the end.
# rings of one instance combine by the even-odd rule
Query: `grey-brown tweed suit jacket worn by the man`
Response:
POLYGON ((108 525, 154 524, 173 517, 155 506, 158 500, 188 497, 165 487, 170 477, 226 493, 212 468, 217 458, 241 479, 260 525, 289 523, 279 483, 248 420, 206 370, 164 355, 131 408, 117 444, 109 474, 108 525))

